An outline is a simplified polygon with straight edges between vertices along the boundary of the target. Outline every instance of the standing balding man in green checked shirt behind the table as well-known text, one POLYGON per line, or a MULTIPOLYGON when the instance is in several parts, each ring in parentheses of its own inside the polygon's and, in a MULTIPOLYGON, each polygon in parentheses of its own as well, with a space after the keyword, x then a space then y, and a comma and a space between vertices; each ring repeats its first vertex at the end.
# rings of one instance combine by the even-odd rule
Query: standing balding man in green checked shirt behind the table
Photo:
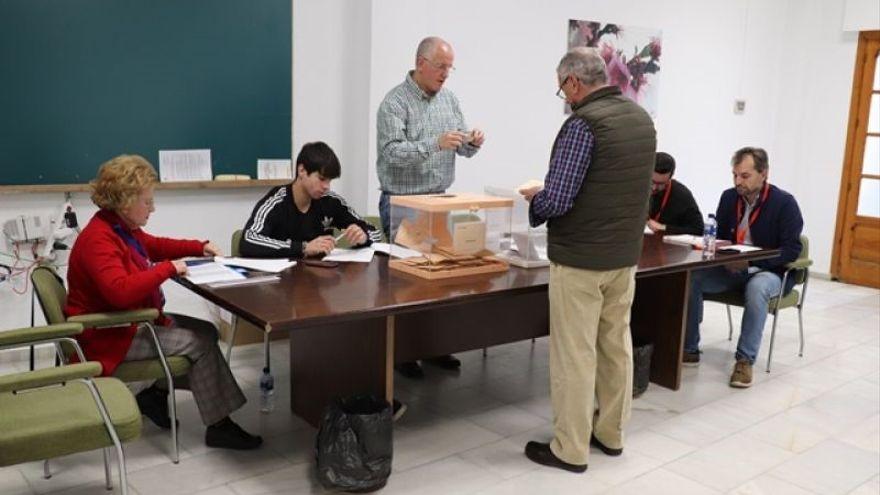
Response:
MULTIPOLYGON (((445 192, 455 180, 455 156, 474 156, 485 140, 481 130, 467 128, 458 98, 444 87, 455 70, 454 61, 455 52, 449 43, 437 37, 423 39, 416 50, 415 68, 379 105, 379 216, 389 241, 393 241, 394 230, 391 196, 445 192)), ((449 355, 430 362, 445 369, 461 365, 449 355)), ((396 368, 409 378, 423 376, 416 362, 401 363, 396 368)))

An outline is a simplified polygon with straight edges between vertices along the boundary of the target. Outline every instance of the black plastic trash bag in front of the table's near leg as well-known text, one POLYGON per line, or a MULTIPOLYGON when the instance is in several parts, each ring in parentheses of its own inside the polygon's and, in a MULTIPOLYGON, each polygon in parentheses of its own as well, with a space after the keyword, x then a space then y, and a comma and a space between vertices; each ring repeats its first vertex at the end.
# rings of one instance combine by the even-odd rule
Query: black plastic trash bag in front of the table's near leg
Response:
POLYGON ((324 410, 315 460, 324 488, 372 492, 391 475, 391 406, 374 395, 336 399, 324 410))

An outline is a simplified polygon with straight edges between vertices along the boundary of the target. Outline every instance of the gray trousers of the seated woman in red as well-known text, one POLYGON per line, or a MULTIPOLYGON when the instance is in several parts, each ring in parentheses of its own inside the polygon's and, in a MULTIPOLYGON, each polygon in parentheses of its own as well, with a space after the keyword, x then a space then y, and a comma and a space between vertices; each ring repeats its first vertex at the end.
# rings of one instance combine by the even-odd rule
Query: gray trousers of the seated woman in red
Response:
MULTIPOLYGON (((189 373, 174 379, 174 386, 190 390, 205 425, 212 425, 229 416, 247 402, 239 388, 229 364, 223 359, 217 345, 217 327, 213 323, 186 315, 168 314, 171 326, 156 326, 156 335, 166 356, 186 356, 192 362, 189 373)), ((125 361, 157 358, 156 348, 149 330, 138 328, 125 361)), ((153 382, 129 384, 135 393, 149 387, 153 382)), ((165 388, 165 381, 157 386, 165 388)))

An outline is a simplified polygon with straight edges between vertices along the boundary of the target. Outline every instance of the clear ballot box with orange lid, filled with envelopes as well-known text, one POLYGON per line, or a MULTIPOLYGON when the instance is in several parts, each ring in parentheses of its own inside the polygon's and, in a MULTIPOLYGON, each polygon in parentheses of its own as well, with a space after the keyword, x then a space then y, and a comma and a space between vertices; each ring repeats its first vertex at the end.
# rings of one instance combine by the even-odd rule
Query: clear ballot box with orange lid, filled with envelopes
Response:
POLYGON ((441 279, 507 271, 513 200, 477 194, 391 197, 394 270, 441 279))

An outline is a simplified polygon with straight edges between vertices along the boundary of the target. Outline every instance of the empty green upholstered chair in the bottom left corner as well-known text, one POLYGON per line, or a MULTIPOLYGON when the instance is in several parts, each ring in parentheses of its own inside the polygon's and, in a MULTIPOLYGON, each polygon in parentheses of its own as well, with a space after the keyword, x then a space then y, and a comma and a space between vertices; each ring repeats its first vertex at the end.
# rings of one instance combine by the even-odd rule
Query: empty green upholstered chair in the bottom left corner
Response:
POLYGON ((73 338, 82 329, 82 324, 64 323, 0 331, 0 350, 38 344, 54 344, 59 350, 63 343, 81 359, 77 364, 0 375, 0 467, 43 460, 48 478, 48 459, 102 449, 109 490, 113 486, 107 447, 112 446, 125 494, 122 443, 140 436, 141 414, 125 384, 98 377, 101 364, 85 361, 73 338))

